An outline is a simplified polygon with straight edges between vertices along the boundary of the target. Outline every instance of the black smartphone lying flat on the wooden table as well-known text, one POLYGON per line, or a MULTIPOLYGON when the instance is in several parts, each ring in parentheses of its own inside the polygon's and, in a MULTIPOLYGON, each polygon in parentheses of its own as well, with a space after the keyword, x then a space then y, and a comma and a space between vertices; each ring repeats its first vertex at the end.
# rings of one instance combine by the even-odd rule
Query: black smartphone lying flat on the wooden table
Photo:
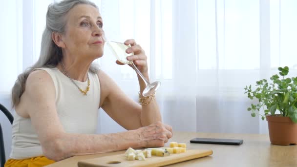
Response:
POLYGON ((194 138, 190 143, 217 144, 217 145, 241 145, 243 140, 240 139, 211 139, 211 138, 194 138))

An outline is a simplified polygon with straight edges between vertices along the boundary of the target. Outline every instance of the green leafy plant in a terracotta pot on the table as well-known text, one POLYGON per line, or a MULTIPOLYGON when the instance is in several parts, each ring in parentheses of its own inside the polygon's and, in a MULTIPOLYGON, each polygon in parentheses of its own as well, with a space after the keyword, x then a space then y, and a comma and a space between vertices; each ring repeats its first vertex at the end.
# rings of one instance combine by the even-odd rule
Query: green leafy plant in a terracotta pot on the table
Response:
POLYGON ((272 144, 297 145, 297 78, 285 78, 289 73, 287 66, 278 70, 281 78, 273 75, 272 83, 263 79, 256 82, 255 90, 252 85, 244 88, 248 98, 256 98, 259 102, 251 104, 248 111, 252 112, 252 117, 257 114, 262 120, 266 117, 272 144), (262 111, 264 114, 260 113, 262 111))

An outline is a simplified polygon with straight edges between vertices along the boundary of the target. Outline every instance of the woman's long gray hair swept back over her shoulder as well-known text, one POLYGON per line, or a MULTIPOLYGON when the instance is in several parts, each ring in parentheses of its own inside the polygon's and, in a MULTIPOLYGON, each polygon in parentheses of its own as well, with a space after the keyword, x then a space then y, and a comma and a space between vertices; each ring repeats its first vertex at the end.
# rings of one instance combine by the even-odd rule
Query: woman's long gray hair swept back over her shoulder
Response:
MULTIPOLYGON (((66 27, 65 16, 70 9, 78 4, 89 4, 98 9, 95 3, 88 0, 62 0, 61 2, 55 2, 48 6, 46 12, 46 27, 42 34, 41 51, 38 61, 27 68, 23 73, 18 76, 13 88, 12 88, 12 106, 15 107, 20 103, 21 95, 25 90, 26 80, 29 74, 34 71, 35 68, 48 67, 53 68, 58 65, 62 60, 62 49, 58 47, 52 40, 52 33, 64 33, 66 27)), ((90 66, 89 71, 91 73, 97 73, 98 67, 94 64, 90 66)))

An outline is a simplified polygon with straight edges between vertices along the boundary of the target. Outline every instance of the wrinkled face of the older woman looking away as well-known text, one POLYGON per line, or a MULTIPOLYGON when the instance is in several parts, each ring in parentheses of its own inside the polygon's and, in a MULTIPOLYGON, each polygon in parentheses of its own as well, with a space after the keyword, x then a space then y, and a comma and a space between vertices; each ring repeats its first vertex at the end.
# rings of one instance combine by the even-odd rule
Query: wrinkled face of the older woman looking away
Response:
POLYGON ((66 16, 64 50, 79 59, 97 59, 104 50, 103 21, 99 10, 92 5, 79 4, 66 16))

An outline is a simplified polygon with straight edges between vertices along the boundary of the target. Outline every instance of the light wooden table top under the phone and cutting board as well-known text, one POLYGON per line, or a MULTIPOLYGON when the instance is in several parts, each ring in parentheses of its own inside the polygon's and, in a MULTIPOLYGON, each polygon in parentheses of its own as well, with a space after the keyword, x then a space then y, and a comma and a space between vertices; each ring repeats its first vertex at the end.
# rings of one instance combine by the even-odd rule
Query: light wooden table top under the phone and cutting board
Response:
MULTIPOLYGON (((208 157, 170 165, 170 167, 297 167, 297 146, 271 145, 266 134, 226 134, 173 132, 169 142, 186 143, 187 149, 212 149, 208 157), (240 146, 191 144, 195 137, 243 139, 240 146)), ((166 144, 168 145, 168 144, 166 144)), ((47 167, 77 167, 78 161, 124 153, 117 151, 104 154, 75 156, 47 167)))

